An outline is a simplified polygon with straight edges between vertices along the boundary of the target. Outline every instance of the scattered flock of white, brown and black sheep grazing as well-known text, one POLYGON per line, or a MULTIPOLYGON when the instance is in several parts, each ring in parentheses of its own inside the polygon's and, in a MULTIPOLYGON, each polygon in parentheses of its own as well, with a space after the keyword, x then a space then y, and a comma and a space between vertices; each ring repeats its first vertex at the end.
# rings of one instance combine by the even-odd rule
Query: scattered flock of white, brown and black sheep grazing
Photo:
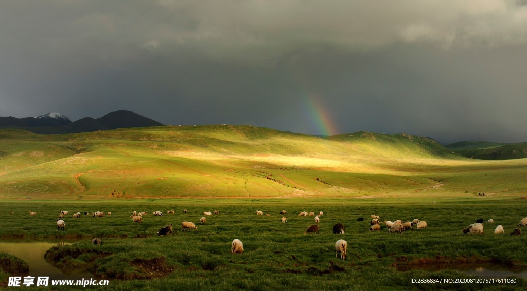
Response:
MULTIPOLYGON (((29 212, 30 215, 34 216, 36 215, 36 212, 32 212, 30 211, 29 212)), ((69 212, 68 211, 61 211, 59 214, 58 214, 58 218, 56 220, 56 226, 58 228, 58 230, 62 230, 62 231, 65 231, 66 230, 66 222, 63 220, 63 218, 65 217, 65 215, 67 215, 69 212)), ((167 214, 173 214, 175 213, 174 211, 172 210, 169 210, 167 211, 167 214)), ((187 213, 187 210, 183 210, 183 213, 187 213)), ((220 214, 219 211, 217 210, 214 210, 213 212, 214 214, 220 214)), ((106 215, 111 215, 112 213, 111 212, 106 212, 106 215)), ((152 212, 153 215, 158 215, 158 216, 163 216, 163 213, 161 211, 154 211, 152 212)), ((256 214, 257 215, 264 215, 264 212, 262 211, 256 211, 256 214)), ((280 212, 280 214, 282 215, 286 215, 287 212, 285 210, 282 210, 280 212)), ((97 212, 92 212, 92 213, 89 213, 89 212, 85 212, 84 215, 92 215, 93 217, 104 217, 104 212, 101 212, 101 211, 97 211, 97 212)), ((130 217, 133 221, 134 224, 136 223, 141 223, 143 221, 143 216, 144 215, 147 215, 146 212, 136 212, 134 211, 130 217)), ((203 215, 212 215, 212 212, 203 212, 203 215)), ((302 211, 298 214, 298 216, 315 216, 315 223, 319 223, 320 222, 320 216, 324 215, 323 212, 318 212, 317 215, 315 215, 314 212, 305 212, 305 211, 302 211)), ((265 216, 271 216, 269 213, 266 213, 265 216)), ((73 214, 73 218, 80 218, 81 217, 81 213, 80 212, 77 212, 77 213, 74 213, 73 214)), ((417 228, 417 229, 422 229, 422 228, 426 228, 427 227, 427 223, 425 221, 419 221, 418 219, 414 219, 412 221, 407 221, 407 222, 403 222, 402 220, 396 220, 396 221, 379 221, 380 217, 378 215, 375 215, 375 214, 372 214, 370 215, 370 218, 372 219, 370 221, 370 228, 369 230, 370 231, 380 231, 380 224, 384 224, 386 226, 386 231, 388 233, 403 233, 404 231, 407 231, 407 230, 412 230, 413 231, 413 228, 417 228)), ((287 218, 286 216, 282 216, 282 219, 281 219, 282 223, 287 223, 287 218)), ((357 221, 364 221, 364 218, 363 217, 359 217, 357 219, 357 221)), ((207 223, 207 218, 205 216, 201 217, 200 218, 200 223, 201 224, 206 224, 207 223)), ((483 234, 484 231, 483 231, 483 223, 484 223, 484 220, 483 219, 478 219, 475 223, 469 225, 468 227, 464 228, 463 230, 463 233, 470 233, 470 234, 483 234)), ((492 219, 489 219, 487 220, 487 223, 494 223, 494 220, 492 219)), ((520 226, 527 226, 527 217, 524 217, 520 223, 518 223, 518 228, 515 228, 513 230, 513 232, 511 233, 511 235, 519 235, 521 234, 521 229, 519 228, 520 226)), ((172 230, 173 230, 173 225, 172 224, 168 224, 164 227, 162 227, 159 231, 158 231, 158 235, 172 235, 172 230)), ((189 221, 184 221, 181 223, 181 231, 186 231, 186 230, 198 230, 198 227, 196 225, 194 225, 194 223, 192 222, 189 222, 189 221)), ((314 225, 310 225, 307 230, 304 232, 304 234, 310 234, 310 233, 318 233, 319 231, 319 228, 318 228, 318 225, 317 224, 314 224, 314 225)), ((343 224, 341 223, 337 223, 333 226, 333 233, 334 234, 344 234, 344 231, 345 231, 345 227, 343 224)), ((504 229, 503 229, 503 226, 502 225, 498 225, 495 230, 494 230, 494 233, 495 234, 499 234, 499 233, 504 233, 504 229)), ((100 240, 100 238, 94 238, 92 240, 92 243, 95 244, 95 245, 101 245, 103 242, 100 240)), ((335 257, 337 257, 338 254, 340 254, 340 258, 341 259, 345 259, 346 258, 346 250, 347 250, 347 242, 345 240, 338 240, 336 243, 335 243, 335 257)), ((242 254, 243 253, 243 243, 238 240, 238 239, 235 239, 232 241, 232 244, 231 244, 231 253, 233 254, 242 254)))

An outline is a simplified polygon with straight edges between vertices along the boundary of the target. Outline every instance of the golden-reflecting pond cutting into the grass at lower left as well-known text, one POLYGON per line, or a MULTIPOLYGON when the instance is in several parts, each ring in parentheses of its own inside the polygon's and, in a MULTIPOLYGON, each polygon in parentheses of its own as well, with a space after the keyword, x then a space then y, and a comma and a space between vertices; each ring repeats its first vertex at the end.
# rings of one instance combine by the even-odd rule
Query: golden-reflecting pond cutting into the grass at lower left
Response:
POLYGON ((30 267, 30 276, 48 276, 50 279, 90 279, 93 275, 88 271, 64 274, 60 269, 47 263, 44 254, 54 246, 69 245, 79 240, 39 240, 39 239, 2 239, 0 240, 0 253, 11 254, 27 262, 30 267))

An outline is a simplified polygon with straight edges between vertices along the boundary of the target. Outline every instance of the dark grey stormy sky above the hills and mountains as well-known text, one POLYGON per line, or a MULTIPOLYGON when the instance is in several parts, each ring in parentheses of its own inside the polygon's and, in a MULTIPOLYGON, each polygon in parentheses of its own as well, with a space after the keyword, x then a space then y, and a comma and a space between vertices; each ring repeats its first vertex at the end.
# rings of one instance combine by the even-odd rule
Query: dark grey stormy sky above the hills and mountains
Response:
POLYGON ((0 116, 527 141, 527 0, 0 3, 0 116))

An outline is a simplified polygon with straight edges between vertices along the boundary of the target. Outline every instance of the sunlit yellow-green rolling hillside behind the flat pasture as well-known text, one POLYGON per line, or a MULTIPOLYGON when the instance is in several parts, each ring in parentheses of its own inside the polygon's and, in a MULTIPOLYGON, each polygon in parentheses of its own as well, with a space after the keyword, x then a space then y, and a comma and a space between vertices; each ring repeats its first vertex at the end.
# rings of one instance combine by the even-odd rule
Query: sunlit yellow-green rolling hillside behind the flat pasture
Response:
POLYGON ((57 136, 2 130, 0 137, 2 199, 446 197, 526 190, 526 160, 466 159, 405 134, 320 138, 217 125, 57 136))

